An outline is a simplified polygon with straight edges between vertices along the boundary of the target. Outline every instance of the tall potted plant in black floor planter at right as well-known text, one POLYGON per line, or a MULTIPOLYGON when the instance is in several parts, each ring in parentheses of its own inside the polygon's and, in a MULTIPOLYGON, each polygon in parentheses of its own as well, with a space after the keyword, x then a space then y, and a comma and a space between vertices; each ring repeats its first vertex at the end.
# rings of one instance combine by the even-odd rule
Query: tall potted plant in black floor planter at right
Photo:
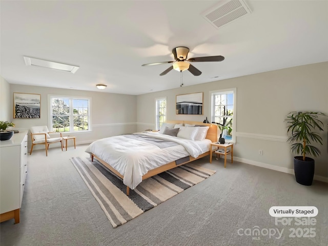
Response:
POLYGON ((314 176, 313 158, 320 156, 320 150, 312 143, 322 145, 322 137, 319 131, 323 131, 323 123, 319 116, 325 116, 320 112, 290 112, 285 119, 287 122, 287 133, 289 134, 293 153, 300 155, 294 156, 294 172, 298 183, 304 186, 311 186, 314 176))

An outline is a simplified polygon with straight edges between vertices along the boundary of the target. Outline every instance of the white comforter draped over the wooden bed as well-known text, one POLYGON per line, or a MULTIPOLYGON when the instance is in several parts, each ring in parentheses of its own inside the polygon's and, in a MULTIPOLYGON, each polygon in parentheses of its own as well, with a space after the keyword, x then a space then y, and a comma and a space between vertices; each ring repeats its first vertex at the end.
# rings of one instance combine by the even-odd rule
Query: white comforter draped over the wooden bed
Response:
POLYGON ((138 133, 176 142, 177 146, 159 148, 148 142, 127 138, 124 135, 94 141, 86 149, 107 162, 121 175, 123 183, 134 189, 149 170, 186 156, 198 157, 209 151, 211 140, 192 141, 158 133, 138 133))

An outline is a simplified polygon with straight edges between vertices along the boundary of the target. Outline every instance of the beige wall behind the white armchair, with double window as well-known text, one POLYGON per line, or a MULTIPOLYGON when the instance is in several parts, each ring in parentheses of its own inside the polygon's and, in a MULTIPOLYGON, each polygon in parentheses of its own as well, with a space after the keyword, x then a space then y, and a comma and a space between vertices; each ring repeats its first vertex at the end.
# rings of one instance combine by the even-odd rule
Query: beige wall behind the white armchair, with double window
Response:
MULTIPOLYGON (((15 129, 28 130, 31 126, 46 125, 49 127, 48 95, 67 95, 91 98, 91 127, 90 132, 76 132, 77 144, 90 143, 96 139, 136 131, 136 96, 112 94, 104 92, 90 92, 67 90, 50 87, 10 85, 10 120, 16 125, 15 129), (13 118, 13 93, 33 93, 41 95, 40 118, 17 119, 13 118)), ((30 140, 30 137, 29 137, 30 140)), ((36 146, 37 148, 39 146, 36 146)), ((30 148, 30 143, 29 143, 30 148)), ((40 147, 39 147, 40 148, 40 147)))

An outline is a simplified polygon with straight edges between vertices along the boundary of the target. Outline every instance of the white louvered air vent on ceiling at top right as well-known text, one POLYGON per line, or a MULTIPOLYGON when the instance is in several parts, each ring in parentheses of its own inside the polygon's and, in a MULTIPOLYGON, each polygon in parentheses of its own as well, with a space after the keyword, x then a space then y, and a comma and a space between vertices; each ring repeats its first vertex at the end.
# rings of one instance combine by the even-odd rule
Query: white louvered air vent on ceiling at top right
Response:
POLYGON ((221 1, 219 5, 204 12, 202 16, 215 28, 220 28, 250 13, 251 10, 244 1, 230 0, 221 1))

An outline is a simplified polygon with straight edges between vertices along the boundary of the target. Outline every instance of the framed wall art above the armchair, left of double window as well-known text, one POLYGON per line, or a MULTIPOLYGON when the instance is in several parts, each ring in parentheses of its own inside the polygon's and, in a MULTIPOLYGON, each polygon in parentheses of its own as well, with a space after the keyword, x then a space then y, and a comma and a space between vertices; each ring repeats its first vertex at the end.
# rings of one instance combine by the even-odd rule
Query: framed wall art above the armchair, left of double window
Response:
POLYGON ((40 118, 41 95, 14 92, 14 118, 40 118))

